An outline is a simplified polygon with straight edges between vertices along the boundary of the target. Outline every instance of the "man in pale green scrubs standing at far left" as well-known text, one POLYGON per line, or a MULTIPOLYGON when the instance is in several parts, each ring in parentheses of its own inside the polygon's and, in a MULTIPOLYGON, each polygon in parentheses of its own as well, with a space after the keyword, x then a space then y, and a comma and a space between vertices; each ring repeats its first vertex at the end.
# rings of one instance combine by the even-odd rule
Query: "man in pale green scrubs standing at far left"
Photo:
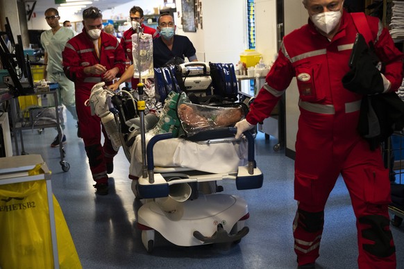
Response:
MULTIPOLYGON (((74 83, 65 76, 62 67, 62 51, 65 49, 66 42, 74 37, 74 32, 69 28, 60 26, 60 17, 56 8, 48 8, 45 11, 45 19, 51 29, 44 31, 40 37, 42 47, 45 51, 44 64, 46 68, 44 68, 44 78, 59 84, 58 103, 65 105, 71 116, 73 116, 73 119, 77 121, 74 83)), ((49 105, 54 105, 53 96, 48 96, 48 98, 49 105)), ((62 128, 65 128, 64 123, 60 124, 62 128)), ((66 143, 65 134, 62 137, 56 135, 51 143, 51 147, 58 147, 60 143, 66 143)))

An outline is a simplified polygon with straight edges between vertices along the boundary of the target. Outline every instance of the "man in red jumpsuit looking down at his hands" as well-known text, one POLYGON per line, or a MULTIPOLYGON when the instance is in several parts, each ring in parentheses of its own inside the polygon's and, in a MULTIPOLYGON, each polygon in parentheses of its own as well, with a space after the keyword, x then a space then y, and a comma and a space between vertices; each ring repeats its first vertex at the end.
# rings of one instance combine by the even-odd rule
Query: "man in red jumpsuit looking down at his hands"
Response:
POLYGON ((76 110, 81 137, 94 187, 99 195, 108 194, 108 175, 113 171, 113 158, 117 151, 112 147, 101 119, 92 116, 84 103, 90 98, 92 87, 101 81, 110 85, 117 73, 125 71, 125 53, 116 37, 104 33, 102 14, 96 7, 83 11, 83 32, 67 42, 62 53, 63 69, 67 78, 74 81, 76 110), (101 128, 104 144, 101 146, 101 128))

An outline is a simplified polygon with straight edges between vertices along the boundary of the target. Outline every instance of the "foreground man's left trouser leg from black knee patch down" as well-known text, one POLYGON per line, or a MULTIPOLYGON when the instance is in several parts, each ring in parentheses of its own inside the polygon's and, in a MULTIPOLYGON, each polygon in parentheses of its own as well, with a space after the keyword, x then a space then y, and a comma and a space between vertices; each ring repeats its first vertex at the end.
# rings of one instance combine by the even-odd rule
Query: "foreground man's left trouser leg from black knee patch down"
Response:
POLYGON ((294 252, 298 264, 314 263, 319 257, 321 234, 323 233, 324 211, 296 211, 293 223, 294 252))

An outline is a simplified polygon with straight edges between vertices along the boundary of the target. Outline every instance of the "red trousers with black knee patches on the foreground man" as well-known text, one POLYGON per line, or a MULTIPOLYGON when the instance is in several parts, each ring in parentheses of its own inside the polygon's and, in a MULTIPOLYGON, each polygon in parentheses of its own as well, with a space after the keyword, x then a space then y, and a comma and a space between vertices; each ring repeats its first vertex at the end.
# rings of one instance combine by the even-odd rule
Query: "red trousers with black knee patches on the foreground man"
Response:
POLYGON ((294 180, 298 201, 294 248, 298 264, 314 263, 319 257, 323 210, 337 177, 342 175, 357 220, 359 268, 396 268, 387 209, 391 202, 389 172, 382 162, 380 149, 369 150, 367 141, 358 137, 355 128, 351 133, 349 128, 319 132, 319 128, 338 125, 335 115, 320 119, 318 114, 314 116, 310 112, 302 111, 302 115, 294 180))

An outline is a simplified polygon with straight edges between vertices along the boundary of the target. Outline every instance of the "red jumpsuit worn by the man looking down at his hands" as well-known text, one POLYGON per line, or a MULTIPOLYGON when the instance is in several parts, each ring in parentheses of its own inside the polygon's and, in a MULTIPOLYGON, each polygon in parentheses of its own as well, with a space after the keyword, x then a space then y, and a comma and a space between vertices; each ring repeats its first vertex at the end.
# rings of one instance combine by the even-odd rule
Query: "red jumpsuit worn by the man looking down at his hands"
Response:
MULTIPOLYGON (((125 71, 124 49, 116 37, 102 31, 98 56, 92 40, 83 29, 83 33, 67 42, 62 57, 65 74, 67 78, 74 81, 78 127, 81 130, 92 177, 97 184, 107 183, 106 163, 112 162, 117 152, 112 148, 101 119, 98 116, 92 116, 90 107, 84 105, 90 98, 92 87, 102 81, 102 75, 85 74, 83 69, 94 64, 102 64, 107 70, 118 67, 119 73, 123 73, 125 71), (101 146, 101 129, 104 134, 103 146, 101 146)), ((106 84, 110 85, 111 82, 106 84)))

